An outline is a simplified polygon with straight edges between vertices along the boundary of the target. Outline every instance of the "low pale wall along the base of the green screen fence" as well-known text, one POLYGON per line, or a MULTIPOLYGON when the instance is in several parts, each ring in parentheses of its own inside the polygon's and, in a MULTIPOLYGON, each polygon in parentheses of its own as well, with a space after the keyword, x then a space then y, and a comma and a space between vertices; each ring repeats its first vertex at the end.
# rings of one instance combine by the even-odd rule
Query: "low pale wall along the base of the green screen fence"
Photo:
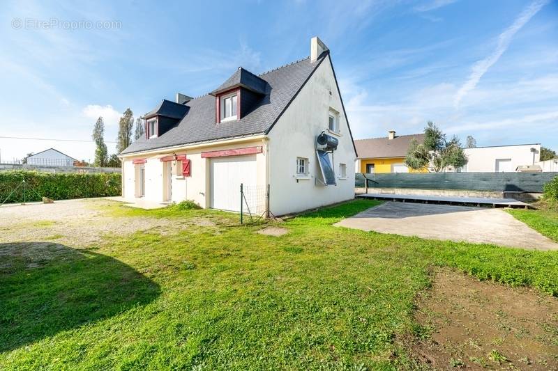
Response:
MULTIPOLYGON (((356 187, 355 194, 365 194, 364 187, 356 187)), ((527 192, 467 191, 462 189, 408 189, 408 188, 368 188, 370 194, 411 194, 420 196, 451 196, 451 197, 488 197, 515 198, 524 202, 538 200, 542 194, 527 192)))

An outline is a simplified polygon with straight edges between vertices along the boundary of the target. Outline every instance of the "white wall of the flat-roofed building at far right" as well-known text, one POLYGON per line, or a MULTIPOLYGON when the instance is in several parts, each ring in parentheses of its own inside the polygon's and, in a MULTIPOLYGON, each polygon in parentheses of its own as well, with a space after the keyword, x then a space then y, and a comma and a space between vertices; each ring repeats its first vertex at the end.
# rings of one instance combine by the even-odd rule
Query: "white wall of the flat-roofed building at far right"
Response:
POLYGON ((540 144, 502 145, 498 147, 465 148, 469 162, 464 167, 467 173, 493 173, 497 159, 511 159, 512 171, 522 165, 533 165, 541 156, 540 144), (531 148, 536 152, 533 156, 531 148))

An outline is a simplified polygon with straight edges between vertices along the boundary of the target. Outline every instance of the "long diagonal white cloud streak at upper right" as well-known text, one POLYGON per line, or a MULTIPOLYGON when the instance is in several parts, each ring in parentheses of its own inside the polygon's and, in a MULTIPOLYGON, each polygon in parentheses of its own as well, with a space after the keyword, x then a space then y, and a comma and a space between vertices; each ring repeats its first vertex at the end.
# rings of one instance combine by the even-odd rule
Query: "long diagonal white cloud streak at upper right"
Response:
POLYGON ((465 84, 463 84, 458 92, 455 94, 455 108, 458 108, 463 97, 465 97, 465 95, 467 95, 467 93, 469 93, 471 90, 474 90, 474 88, 476 88, 476 84, 478 84, 478 81, 481 80, 483 74, 485 74, 488 69, 499 60, 502 54, 506 52, 506 49, 508 49, 511 40, 513 39, 513 35, 515 35, 515 33, 517 33, 520 29, 522 29, 522 27, 525 26, 527 22, 529 22, 529 19, 536 15, 536 13, 538 13, 538 10, 541 10, 541 8, 545 6, 546 3, 548 3, 548 0, 534 1, 533 3, 531 3, 531 5, 529 5, 527 8, 525 8, 525 10, 522 11, 519 17, 515 19, 515 22, 513 22, 513 24, 508 27, 508 29, 500 33, 500 35, 498 36, 498 45, 495 51, 492 52, 490 56, 481 59, 481 61, 478 61, 473 65, 471 74, 469 74, 469 79, 467 79, 465 84))

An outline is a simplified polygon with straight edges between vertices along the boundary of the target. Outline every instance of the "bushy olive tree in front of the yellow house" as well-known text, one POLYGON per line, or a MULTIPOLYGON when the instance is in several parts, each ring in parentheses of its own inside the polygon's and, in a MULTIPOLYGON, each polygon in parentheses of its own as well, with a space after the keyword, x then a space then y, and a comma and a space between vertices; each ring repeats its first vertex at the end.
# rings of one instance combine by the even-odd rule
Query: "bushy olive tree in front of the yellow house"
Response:
POLYGON ((467 157, 459 139, 453 136, 449 141, 434 123, 428 121, 424 129, 424 143, 413 139, 407 149, 405 164, 414 170, 430 167, 438 173, 448 166, 460 168, 467 164, 467 157))

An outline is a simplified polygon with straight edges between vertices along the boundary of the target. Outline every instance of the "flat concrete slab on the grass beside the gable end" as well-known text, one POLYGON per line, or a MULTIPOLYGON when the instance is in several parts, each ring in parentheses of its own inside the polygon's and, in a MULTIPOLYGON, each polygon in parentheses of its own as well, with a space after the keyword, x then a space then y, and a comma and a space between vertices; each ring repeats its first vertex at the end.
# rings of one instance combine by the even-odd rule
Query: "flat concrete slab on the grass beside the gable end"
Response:
POLYGON ((501 209, 386 202, 335 226, 457 242, 558 250, 558 244, 501 209))

